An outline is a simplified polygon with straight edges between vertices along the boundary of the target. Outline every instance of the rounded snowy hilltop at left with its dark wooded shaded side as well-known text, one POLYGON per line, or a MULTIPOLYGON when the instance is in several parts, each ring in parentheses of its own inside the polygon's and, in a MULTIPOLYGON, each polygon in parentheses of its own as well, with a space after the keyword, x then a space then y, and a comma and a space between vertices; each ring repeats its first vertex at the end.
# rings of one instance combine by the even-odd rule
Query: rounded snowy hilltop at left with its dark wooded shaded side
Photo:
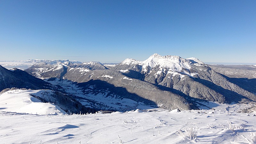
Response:
POLYGON ((60 92, 17 88, 7 88, 0 92, 0 108, 0 111, 41 115, 95 112, 60 92))

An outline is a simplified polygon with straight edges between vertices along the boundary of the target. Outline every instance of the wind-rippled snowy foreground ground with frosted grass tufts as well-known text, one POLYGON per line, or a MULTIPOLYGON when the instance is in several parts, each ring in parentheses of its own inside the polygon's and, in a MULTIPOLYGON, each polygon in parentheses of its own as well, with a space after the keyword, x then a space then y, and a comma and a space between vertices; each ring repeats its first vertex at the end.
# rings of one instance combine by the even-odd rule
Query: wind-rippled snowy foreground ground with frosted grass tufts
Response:
POLYGON ((0 112, 0 140, 3 144, 255 143, 255 116, 233 112, 235 106, 56 116, 0 112))

